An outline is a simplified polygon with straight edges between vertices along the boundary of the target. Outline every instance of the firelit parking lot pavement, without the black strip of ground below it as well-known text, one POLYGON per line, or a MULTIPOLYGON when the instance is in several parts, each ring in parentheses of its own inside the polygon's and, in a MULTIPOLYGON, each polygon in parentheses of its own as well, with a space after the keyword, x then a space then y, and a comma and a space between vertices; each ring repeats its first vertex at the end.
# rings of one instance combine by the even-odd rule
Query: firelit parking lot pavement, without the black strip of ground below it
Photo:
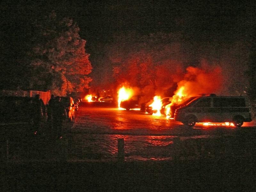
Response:
MULTIPOLYGON (((63 125, 62 139, 46 134, 22 144, 9 140, 9 161, 112 162, 117 160, 118 139, 124 139, 125 161, 250 157, 256 146, 255 127, 187 129, 164 117, 116 108, 81 107, 75 121, 63 125)), ((5 156, 6 140, 1 151, 5 156)))

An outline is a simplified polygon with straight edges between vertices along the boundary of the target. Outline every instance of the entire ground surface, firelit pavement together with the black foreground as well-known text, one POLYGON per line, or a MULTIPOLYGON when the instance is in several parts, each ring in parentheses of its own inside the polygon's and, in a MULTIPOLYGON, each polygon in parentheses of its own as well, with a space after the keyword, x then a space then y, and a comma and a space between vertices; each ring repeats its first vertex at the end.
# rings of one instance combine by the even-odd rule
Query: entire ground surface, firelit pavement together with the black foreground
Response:
POLYGON ((46 132, 2 140, 0 191, 255 191, 255 133, 253 123, 188 129, 84 102, 61 139, 46 132))

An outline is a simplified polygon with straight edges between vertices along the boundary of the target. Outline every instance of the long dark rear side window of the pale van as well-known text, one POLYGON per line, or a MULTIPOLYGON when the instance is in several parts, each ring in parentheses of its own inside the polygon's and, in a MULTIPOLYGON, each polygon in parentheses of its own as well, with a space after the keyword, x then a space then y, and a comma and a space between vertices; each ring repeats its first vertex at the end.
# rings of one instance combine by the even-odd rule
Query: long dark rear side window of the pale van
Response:
POLYGON ((213 107, 245 107, 244 98, 213 98, 213 107))

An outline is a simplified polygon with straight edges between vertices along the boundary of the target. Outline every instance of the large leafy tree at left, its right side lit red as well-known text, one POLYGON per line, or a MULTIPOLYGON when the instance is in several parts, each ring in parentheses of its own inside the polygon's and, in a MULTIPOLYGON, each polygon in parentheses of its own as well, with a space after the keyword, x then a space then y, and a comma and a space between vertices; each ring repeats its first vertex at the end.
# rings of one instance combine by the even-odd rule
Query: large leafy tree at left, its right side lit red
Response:
POLYGON ((86 41, 79 36, 79 27, 69 18, 59 19, 55 12, 36 21, 32 50, 30 89, 51 90, 64 96, 88 88, 92 79, 86 41))

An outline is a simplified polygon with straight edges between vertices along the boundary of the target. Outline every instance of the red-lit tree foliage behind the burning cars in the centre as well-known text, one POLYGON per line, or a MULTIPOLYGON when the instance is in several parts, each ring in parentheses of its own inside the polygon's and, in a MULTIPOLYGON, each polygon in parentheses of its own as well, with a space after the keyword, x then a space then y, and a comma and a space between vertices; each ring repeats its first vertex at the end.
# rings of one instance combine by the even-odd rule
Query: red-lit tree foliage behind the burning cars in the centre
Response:
POLYGON ((113 76, 118 84, 128 82, 143 89, 145 94, 155 94, 158 89, 167 92, 174 86, 173 82, 180 80, 178 76, 186 67, 182 63, 186 62, 187 56, 180 57, 183 50, 178 34, 131 33, 115 39, 119 46, 113 44, 109 60, 113 62, 113 76))

